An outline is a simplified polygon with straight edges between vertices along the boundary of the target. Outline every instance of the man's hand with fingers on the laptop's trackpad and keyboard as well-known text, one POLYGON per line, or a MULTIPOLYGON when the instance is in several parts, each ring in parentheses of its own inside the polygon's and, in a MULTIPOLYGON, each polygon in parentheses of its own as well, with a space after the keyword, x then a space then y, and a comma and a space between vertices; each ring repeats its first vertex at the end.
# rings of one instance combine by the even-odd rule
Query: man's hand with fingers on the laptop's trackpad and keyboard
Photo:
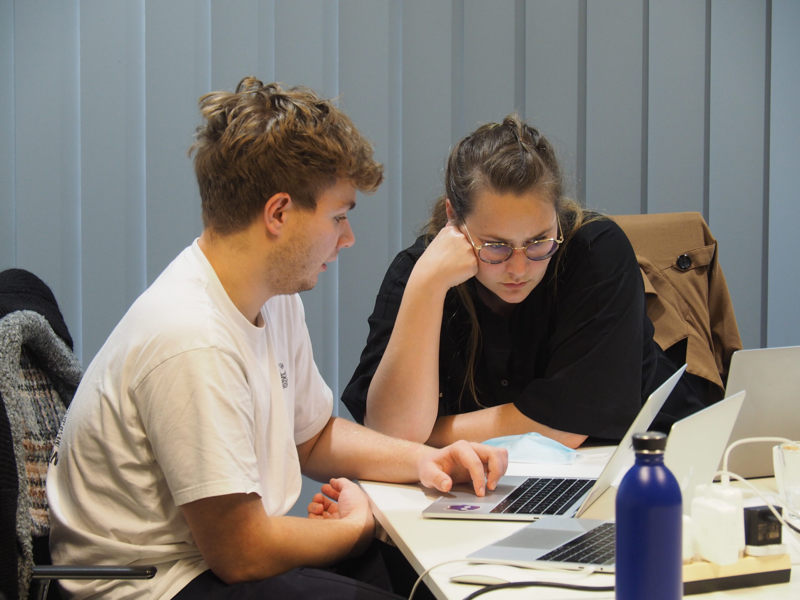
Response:
POLYGON ((418 463, 423 486, 448 492, 453 483, 472 481, 475 494, 494 490, 508 468, 508 450, 475 442, 455 442, 439 450, 426 448, 418 463))

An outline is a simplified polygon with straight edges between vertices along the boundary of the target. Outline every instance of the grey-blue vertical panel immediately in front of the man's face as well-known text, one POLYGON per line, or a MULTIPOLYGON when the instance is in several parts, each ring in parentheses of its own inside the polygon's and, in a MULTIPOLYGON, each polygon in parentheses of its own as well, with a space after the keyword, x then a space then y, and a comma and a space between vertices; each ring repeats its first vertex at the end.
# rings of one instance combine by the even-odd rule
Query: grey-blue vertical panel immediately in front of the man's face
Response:
MULTIPOLYGON (((390 114, 393 89, 390 72, 399 61, 392 55, 392 30, 401 25, 394 2, 341 0, 339 3, 339 93, 341 106, 358 130, 370 139, 375 159, 386 166, 386 181, 370 197, 358 196, 358 208, 350 214, 356 237, 355 246, 343 250, 339 266, 339 381, 350 380, 366 342, 369 327, 366 317, 372 312, 375 294, 391 258, 399 250, 386 240, 393 238, 390 205, 400 202, 392 194, 392 183, 400 177, 399 161, 390 159, 390 123, 400 114, 390 114), (369 52, 366 49, 369 48, 369 52)), ((394 49, 398 50, 398 49, 394 49)), ((396 106, 396 109, 399 105, 396 106)))

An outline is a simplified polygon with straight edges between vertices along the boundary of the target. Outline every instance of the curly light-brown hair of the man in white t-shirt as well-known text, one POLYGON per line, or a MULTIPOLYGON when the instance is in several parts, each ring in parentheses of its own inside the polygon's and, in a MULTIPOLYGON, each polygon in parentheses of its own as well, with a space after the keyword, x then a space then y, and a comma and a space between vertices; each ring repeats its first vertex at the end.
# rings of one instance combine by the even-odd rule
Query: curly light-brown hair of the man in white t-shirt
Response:
POLYGON ((211 92, 198 102, 203 124, 194 154, 203 226, 215 234, 244 229, 274 194, 307 210, 337 179, 364 193, 378 189, 383 166, 370 142, 330 100, 296 86, 266 86, 253 77, 235 92, 211 92))

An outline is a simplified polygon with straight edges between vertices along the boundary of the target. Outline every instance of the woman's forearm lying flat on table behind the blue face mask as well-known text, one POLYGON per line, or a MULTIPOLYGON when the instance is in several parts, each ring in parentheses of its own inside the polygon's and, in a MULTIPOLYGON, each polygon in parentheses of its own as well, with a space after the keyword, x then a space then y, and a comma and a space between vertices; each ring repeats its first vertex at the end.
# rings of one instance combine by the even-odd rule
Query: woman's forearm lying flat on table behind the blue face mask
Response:
POLYGON ((442 447, 459 439, 466 439, 467 442, 485 442, 487 439, 502 435, 530 432, 542 434, 570 448, 577 448, 586 440, 586 435, 570 434, 542 425, 519 412, 513 404, 502 404, 471 413, 439 417, 426 444, 442 447))

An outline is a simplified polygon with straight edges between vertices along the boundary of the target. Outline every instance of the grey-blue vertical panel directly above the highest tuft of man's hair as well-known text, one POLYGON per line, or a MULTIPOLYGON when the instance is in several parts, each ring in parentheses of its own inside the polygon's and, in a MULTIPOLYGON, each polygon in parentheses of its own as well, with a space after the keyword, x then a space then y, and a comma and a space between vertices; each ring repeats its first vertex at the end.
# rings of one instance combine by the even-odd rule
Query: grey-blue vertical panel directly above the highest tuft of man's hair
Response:
POLYGON ((274 80, 274 17, 274 0, 212 0, 212 89, 233 91, 248 75, 274 80))

